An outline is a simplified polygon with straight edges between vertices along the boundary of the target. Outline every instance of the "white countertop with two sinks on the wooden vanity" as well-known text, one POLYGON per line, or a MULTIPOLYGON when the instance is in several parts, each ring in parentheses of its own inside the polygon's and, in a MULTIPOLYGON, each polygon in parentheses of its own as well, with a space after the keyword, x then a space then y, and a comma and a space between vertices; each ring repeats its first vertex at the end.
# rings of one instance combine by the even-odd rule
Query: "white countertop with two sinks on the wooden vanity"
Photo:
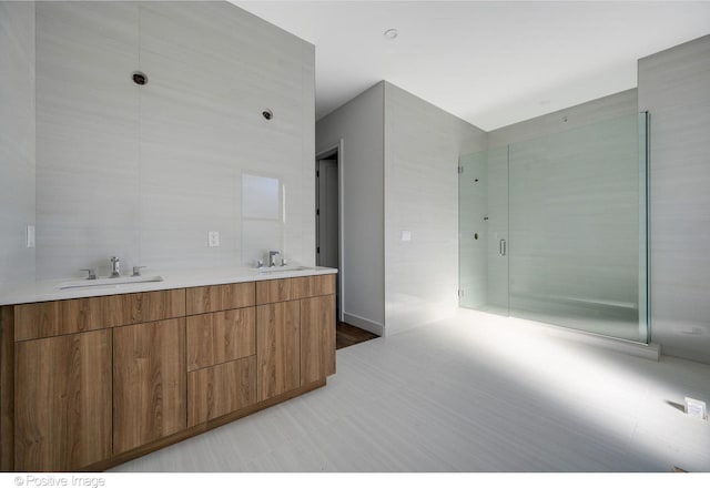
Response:
MULTIPOLYGON (((48 279, 23 283, 16 287, 3 287, 0 289, 0 305, 17 305, 21 303, 84 298, 88 296, 119 295, 122 293, 154 292, 159 289, 190 288, 192 286, 260 282, 264 279, 280 279, 337 273, 337 270, 332 267, 308 266, 305 270, 290 270, 293 267, 297 266, 287 266, 285 270, 263 268, 261 271, 253 267, 150 271, 143 274, 145 276, 161 276, 163 279, 160 282, 115 285, 108 284, 65 289, 61 289, 60 285, 67 282, 80 281, 81 278, 67 277, 65 279, 48 279), (274 270, 277 271, 274 272, 274 270)), ((103 277, 104 276, 99 276, 99 278, 103 277)), ((87 281, 87 283, 91 283, 91 281, 87 281)))

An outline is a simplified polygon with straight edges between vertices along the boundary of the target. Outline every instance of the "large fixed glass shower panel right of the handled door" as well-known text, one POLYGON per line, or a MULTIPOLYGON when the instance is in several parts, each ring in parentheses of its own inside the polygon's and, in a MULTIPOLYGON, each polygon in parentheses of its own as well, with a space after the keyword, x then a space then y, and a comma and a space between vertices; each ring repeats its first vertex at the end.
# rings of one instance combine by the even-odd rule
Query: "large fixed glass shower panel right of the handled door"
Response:
POLYGON ((508 148, 511 316, 646 342, 638 138, 635 114, 508 148))

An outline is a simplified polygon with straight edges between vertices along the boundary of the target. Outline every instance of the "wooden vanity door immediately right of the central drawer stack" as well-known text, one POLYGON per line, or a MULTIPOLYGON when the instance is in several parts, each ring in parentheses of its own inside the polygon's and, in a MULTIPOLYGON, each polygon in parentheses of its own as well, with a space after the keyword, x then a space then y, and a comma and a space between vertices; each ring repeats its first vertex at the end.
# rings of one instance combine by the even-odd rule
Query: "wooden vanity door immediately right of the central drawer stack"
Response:
POLYGON ((256 392, 263 401, 295 389, 301 382, 297 301, 256 307, 256 392))

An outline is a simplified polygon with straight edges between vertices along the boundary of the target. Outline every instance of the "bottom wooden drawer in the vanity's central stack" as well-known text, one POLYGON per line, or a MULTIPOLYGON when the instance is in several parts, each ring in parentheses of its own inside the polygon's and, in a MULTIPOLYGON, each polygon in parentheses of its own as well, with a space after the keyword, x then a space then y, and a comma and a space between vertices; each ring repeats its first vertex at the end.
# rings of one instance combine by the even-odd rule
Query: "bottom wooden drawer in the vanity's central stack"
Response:
POLYGON ((187 427, 256 403, 256 356, 187 374, 187 427))

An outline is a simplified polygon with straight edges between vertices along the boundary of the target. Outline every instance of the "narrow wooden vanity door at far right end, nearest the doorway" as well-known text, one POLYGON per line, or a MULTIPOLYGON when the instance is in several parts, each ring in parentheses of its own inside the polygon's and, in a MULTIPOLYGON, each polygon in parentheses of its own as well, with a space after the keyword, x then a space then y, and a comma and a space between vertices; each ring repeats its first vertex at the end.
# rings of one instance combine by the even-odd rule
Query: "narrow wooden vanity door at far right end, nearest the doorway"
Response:
POLYGON ((335 373, 335 295, 301 301, 301 385, 335 373))

